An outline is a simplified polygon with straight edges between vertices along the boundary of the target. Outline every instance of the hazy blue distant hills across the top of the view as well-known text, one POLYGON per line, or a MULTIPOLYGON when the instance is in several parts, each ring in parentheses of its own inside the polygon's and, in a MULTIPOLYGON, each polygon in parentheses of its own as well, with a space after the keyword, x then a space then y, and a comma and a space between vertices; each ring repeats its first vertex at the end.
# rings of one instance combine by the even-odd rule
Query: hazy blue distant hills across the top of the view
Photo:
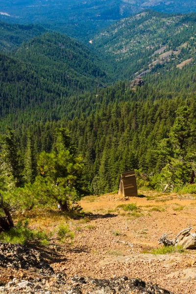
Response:
POLYGON ((8 22, 58 22, 118 20, 146 8, 168 12, 196 11, 196 3, 190 0, 8 0, 1 3, 1 19, 8 22), (65 5, 66 4, 66 5, 65 5))

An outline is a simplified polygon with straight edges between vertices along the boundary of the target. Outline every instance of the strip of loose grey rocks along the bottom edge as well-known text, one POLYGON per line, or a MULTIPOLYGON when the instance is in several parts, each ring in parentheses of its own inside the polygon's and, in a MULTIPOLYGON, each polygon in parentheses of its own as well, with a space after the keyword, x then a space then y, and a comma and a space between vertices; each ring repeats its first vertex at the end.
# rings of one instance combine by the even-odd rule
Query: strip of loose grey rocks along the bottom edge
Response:
POLYGON ((51 276, 42 276, 32 281, 16 278, 0 287, 1 294, 172 294, 157 285, 145 283, 140 279, 128 279, 126 276, 108 280, 74 276, 66 278, 63 272, 51 276))

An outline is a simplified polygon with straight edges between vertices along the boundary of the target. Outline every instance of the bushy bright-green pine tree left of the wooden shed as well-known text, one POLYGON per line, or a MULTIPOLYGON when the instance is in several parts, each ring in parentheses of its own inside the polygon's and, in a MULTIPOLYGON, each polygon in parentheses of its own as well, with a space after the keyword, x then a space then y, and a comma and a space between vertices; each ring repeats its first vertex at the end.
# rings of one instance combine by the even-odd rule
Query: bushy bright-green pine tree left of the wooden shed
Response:
POLYGON ((82 158, 76 157, 71 147, 70 136, 64 128, 56 129, 54 151, 43 151, 38 160, 40 175, 36 177, 34 186, 42 191, 46 201, 56 201, 61 210, 80 210, 74 208, 80 199, 79 176, 82 172, 82 158))

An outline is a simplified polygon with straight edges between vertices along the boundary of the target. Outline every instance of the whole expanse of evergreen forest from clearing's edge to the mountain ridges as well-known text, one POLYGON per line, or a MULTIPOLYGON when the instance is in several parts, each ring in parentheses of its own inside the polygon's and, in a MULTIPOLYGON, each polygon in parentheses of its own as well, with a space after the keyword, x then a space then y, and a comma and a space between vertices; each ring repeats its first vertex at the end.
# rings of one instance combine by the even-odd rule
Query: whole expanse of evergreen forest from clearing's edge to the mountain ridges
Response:
POLYGON ((30 208, 42 195, 69 210, 81 195, 116 191, 130 169, 139 187, 196 192, 194 22, 145 11, 96 35, 91 49, 42 27, 1 24, 20 32, 0 53, 3 197, 20 195, 30 208), (144 83, 132 87, 142 71, 144 83))

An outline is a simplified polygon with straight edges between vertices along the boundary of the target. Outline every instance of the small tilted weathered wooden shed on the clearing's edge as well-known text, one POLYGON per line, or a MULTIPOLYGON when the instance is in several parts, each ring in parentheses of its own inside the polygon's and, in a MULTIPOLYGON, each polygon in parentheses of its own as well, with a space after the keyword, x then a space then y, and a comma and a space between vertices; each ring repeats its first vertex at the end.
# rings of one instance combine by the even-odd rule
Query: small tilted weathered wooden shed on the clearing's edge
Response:
POLYGON ((122 197, 138 196, 135 171, 121 173, 118 194, 122 197))

